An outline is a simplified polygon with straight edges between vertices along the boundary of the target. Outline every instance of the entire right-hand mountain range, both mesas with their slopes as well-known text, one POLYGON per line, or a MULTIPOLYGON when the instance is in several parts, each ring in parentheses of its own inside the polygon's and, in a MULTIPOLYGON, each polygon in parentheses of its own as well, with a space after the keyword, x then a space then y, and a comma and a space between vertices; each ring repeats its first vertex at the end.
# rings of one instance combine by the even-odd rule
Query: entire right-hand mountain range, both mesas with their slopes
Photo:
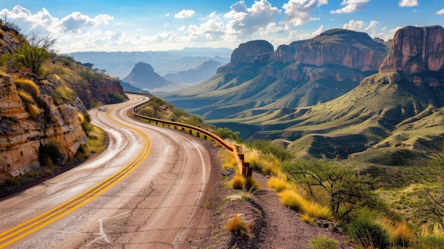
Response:
POLYGON ((206 81, 163 97, 297 155, 410 165, 442 150, 443 44, 440 26, 401 28, 389 43, 342 29, 277 50, 254 40, 206 81))

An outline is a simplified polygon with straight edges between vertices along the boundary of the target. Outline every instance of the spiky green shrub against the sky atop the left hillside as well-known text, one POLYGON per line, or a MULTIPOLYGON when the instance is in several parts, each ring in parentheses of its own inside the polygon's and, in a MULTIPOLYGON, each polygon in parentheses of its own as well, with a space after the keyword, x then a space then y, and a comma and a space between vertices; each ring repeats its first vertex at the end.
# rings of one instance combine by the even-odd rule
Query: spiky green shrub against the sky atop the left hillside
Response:
POLYGON ((52 56, 50 48, 55 41, 50 34, 39 37, 31 33, 28 39, 13 52, 13 57, 21 65, 28 67, 33 74, 39 74, 43 62, 52 56))

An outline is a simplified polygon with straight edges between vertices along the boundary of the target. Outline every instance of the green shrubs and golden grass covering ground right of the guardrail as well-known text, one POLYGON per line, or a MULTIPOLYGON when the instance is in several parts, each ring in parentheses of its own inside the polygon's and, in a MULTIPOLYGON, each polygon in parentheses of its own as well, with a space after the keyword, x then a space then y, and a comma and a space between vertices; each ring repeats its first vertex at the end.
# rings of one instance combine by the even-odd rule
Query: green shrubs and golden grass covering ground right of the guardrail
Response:
MULTIPOLYGON (((282 145, 267 140, 243 143, 238 133, 216 129, 199 116, 177 111, 173 105, 155 99, 140 114, 193 124, 242 145, 245 162, 270 177, 268 186, 277 192, 283 205, 301 213, 302 221, 313 226, 318 221, 328 221, 329 229, 343 231, 355 248, 444 248, 443 155, 423 159, 417 167, 387 166, 381 163, 384 157, 372 164, 296 157, 282 145)), ((225 155, 222 160, 223 169, 236 169, 234 157, 225 155)), ((233 189, 248 189, 241 175, 234 175, 225 184, 233 189)), ((227 227, 234 222, 229 221, 227 227)), ((311 248, 335 245, 334 240, 319 236, 311 241, 311 248)))

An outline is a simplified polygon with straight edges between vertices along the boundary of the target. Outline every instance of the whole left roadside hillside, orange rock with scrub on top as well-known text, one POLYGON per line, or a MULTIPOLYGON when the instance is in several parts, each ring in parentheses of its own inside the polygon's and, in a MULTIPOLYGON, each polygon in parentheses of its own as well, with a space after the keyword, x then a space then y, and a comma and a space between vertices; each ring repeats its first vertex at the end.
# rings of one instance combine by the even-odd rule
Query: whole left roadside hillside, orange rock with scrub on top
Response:
POLYGON ((17 50, 26 39, 2 22, 0 43, 1 183, 40 166, 65 165, 78 151, 87 150, 81 123, 87 119, 87 108, 123 101, 126 96, 117 79, 70 57, 48 52, 37 73, 20 60, 9 63, 11 58, 44 54, 32 54, 32 45, 17 50))

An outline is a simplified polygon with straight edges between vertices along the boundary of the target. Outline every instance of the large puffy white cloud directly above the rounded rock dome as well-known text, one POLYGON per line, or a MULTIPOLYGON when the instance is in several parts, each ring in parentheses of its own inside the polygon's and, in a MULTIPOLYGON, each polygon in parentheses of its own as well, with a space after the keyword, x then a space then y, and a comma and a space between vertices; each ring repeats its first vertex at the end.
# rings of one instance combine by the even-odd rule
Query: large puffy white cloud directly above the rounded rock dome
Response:
POLYGON ((226 32, 231 35, 271 32, 276 27, 274 15, 280 13, 267 0, 255 1, 251 8, 245 5, 245 1, 238 1, 230 8, 231 11, 223 17, 228 18, 226 32))

